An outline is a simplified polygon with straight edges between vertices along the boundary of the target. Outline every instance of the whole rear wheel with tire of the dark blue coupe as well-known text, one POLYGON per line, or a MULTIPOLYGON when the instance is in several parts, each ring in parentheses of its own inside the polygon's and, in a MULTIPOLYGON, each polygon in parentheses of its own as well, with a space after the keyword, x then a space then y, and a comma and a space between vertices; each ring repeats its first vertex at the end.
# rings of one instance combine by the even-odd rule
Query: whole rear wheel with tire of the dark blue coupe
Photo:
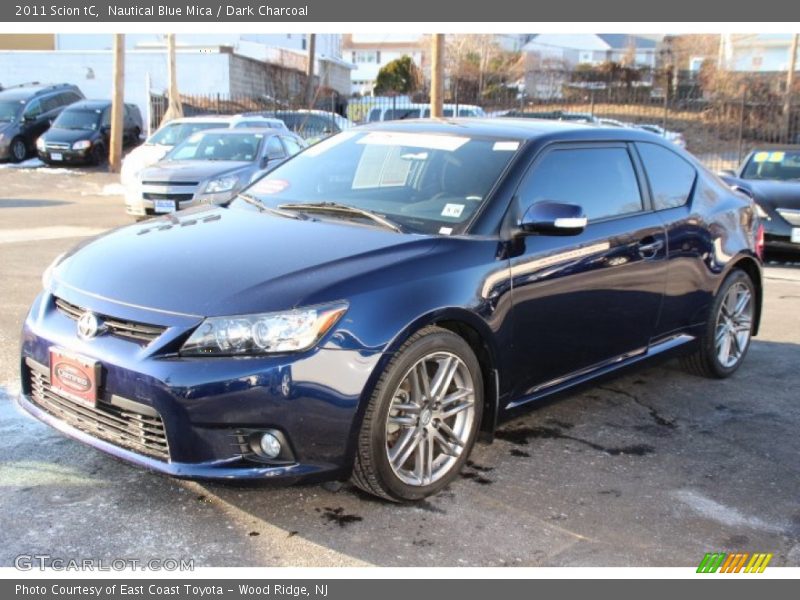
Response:
POLYGON ((750 276, 736 269, 722 282, 697 350, 681 359, 694 375, 730 377, 741 366, 753 336, 756 292, 750 276))

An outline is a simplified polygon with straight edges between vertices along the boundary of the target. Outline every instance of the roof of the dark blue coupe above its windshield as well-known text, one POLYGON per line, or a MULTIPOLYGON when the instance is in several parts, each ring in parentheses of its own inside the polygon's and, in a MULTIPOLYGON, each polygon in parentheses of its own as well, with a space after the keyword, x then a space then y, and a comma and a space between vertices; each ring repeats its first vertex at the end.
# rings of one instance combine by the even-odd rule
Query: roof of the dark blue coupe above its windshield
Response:
POLYGON ((359 127, 370 131, 412 131, 415 133, 463 134, 485 137, 507 137, 533 140, 544 137, 584 140, 641 140, 662 141, 662 138, 644 130, 603 127, 575 121, 552 119, 409 119, 378 121, 359 127))

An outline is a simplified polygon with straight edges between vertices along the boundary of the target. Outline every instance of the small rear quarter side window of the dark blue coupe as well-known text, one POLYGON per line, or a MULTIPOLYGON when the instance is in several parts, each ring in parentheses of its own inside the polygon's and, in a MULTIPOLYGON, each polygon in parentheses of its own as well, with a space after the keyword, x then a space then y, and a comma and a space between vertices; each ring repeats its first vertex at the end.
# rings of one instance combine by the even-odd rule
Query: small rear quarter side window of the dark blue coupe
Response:
POLYGON ((683 206, 689 201, 697 172, 683 158, 658 144, 637 142, 656 210, 683 206))

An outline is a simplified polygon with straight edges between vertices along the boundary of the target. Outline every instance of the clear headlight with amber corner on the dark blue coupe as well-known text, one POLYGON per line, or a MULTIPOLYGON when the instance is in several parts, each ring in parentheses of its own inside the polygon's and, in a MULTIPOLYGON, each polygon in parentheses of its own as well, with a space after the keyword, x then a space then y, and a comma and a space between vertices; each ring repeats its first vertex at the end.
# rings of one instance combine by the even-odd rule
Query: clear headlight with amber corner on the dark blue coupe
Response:
POLYGON ((242 355, 302 352, 330 331, 346 302, 278 313, 209 317, 181 348, 183 355, 242 355))

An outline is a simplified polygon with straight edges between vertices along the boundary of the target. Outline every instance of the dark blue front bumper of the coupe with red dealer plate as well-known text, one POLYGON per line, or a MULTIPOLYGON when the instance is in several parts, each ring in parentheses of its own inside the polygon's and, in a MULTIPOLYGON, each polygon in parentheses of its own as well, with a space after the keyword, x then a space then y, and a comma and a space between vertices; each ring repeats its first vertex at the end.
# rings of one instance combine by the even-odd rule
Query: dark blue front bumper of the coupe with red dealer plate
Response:
MULTIPOLYGON (((175 350, 199 323, 196 317, 158 315, 80 294, 68 302, 100 315, 157 324, 164 332, 147 344, 112 334, 83 341, 74 318, 56 307, 53 296, 40 295, 23 328, 18 398, 35 418, 117 458, 176 477, 292 483, 349 472, 358 406, 379 354, 328 347, 302 355, 186 359, 175 350), (64 401, 57 392, 48 388, 51 402, 44 401, 37 376, 48 371, 52 347, 99 362, 98 407, 121 402, 128 413, 158 415, 167 453, 153 455, 135 438, 131 442, 128 425, 114 420, 119 410, 102 414, 98 429, 89 411, 75 417, 80 411, 73 410, 67 418, 69 411, 54 410, 53 400, 64 401), (124 436, 105 434, 104 423, 124 436), (253 432, 270 430, 287 442, 287 453, 272 461, 243 443, 253 432)), ((134 428, 134 435, 138 431, 134 428)))

